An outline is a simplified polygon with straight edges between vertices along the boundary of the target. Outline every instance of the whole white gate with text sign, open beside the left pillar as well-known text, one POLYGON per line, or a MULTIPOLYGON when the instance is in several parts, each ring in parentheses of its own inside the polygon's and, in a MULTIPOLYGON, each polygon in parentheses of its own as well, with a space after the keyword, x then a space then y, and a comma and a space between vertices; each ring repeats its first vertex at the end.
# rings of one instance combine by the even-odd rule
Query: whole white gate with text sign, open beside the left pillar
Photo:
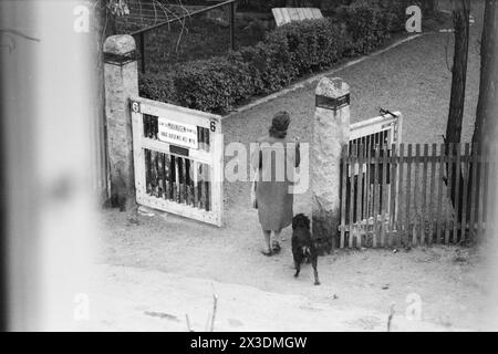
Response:
POLYGON ((131 108, 137 202, 220 227, 221 117, 142 97, 131 108))

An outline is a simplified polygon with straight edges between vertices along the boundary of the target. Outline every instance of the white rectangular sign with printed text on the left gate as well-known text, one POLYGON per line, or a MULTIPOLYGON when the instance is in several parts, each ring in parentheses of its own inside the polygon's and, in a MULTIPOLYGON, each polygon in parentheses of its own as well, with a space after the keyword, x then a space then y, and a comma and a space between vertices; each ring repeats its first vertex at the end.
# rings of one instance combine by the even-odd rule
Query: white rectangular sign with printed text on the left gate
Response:
POLYGON ((158 139, 173 145, 198 148, 197 126, 193 124, 178 123, 172 119, 158 119, 158 139))

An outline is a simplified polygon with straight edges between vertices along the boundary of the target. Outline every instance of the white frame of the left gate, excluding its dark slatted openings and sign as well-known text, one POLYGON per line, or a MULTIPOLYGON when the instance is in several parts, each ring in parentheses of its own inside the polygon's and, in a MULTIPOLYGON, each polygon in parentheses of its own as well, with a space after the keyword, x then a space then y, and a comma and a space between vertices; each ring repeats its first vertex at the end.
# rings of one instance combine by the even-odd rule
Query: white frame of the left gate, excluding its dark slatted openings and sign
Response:
POLYGON ((133 128, 133 156, 135 169, 136 201, 139 205, 175 214, 198 221, 222 227, 224 223, 224 135, 221 129, 222 117, 219 115, 195 111, 176 106, 168 103, 157 102, 139 96, 129 98, 133 128), (207 164, 209 168, 209 181, 211 185, 209 211, 194 208, 188 205, 180 205, 167 199, 156 198, 147 195, 145 180, 145 154, 144 149, 185 157, 173 153, 169 147, 175 146, 166 142, 149 139, 144 136, 144 114, 157 117, 166 117, 175 114, 173 121, 178 123, 193 124, 210 129, 210 150, 188 148, 188 158, 198 163, 207 164), (179 117, 179 118, 178 118, 179 117), (215 131, 212 131, 212 123, 215 131), (212 142, 212 143, 211 143, 212 142))

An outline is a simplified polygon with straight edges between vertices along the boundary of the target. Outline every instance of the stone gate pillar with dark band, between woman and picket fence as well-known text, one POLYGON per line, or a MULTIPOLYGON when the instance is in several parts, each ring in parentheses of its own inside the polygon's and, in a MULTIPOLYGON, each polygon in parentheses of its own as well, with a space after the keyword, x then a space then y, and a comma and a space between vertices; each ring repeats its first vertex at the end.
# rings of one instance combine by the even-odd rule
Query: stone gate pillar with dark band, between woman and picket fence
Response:
POLYGON ((312 231, 330 252, 339 246, 341 149, 350 138, 350 86, 323 77, 315 91, 311 154, 312 231))

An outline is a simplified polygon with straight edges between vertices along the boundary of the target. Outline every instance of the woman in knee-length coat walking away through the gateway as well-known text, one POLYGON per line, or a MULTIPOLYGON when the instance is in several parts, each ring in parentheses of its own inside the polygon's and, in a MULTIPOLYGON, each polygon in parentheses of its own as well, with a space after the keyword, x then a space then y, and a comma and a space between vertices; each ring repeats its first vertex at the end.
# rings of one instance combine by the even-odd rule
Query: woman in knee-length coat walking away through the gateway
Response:
POLYGON ((294 168, 299 166, 299 143, 289 144, 287 112, 277 113, 268 135, 258 139, 258 149, 251 156, 256 170, 256 201, 263 233, 262 253, 271 256, 280 250, 278 239, 283 228, 292 222, 294 168), (273 248, 271 247, 273 232, 273 248))

